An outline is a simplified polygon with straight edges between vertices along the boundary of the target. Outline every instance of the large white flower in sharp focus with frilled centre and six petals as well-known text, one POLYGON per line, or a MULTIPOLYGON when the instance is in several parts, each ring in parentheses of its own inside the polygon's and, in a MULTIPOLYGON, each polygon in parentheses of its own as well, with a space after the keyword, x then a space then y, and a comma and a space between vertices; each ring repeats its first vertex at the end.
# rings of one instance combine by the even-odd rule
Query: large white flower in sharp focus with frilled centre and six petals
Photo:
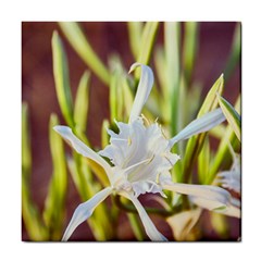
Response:
POLYGON ((134 203, 147 235, 154 241, 166 240, 166 238, 156 228, 140 204, 138 200, 140 194, 159 192, 165 197, 162 189, 169 189, 178 194, 199 197, 207 200, 213 208, 226 207, 229 202, 231 195, 223 188, 173 183, 170 173, 170 170, 179 160, 179 156, 171 152, 174 144, 192 135, 207 132, 223 122, 225 117, 221 109, 195 120, 175 137, 166 139, 158 123, 148 125, 140 117, 141 109, 153 86, 153 73, 149 66, 139 63, 133 64, 129 72, 137 66, 141 66, 141 77, 129 121, 128 123, 116 122, 119 134, 108 130, 111 136, 110 145, 99 153, 74 136, 71 128, 66 126, 54 127, 78 153, 100 164, 110 181, 109 187, 76 208, 62 240, 67 240, 74 229, 86 221, 92 214, 95 208, 111 194, 119 194, 134 203), (110 159, 113 166, 101 156, 110 159))

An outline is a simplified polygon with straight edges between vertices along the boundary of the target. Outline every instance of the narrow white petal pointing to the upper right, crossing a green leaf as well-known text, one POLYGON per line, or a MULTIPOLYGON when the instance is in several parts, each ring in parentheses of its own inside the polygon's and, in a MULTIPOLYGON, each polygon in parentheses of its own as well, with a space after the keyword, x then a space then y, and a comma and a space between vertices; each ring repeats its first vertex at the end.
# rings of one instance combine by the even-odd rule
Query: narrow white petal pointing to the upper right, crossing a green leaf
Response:
POLYGON ((204 133, 215 127, 225 121, 225 116, 221 109, 213 110, 206 113, 203 116, 194 120, 183 130, 181 130, 175 137, 170 139, 170 147, 173 147, 179 140, 188 139, 194 135, 204 133))

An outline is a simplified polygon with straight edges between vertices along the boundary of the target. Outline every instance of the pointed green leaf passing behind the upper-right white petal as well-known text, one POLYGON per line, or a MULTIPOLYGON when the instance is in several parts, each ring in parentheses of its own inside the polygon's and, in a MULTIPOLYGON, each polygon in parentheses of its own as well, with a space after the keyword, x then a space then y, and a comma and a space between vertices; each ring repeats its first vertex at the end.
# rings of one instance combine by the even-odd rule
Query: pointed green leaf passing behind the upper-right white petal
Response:
MULTIPOLYGON (((224 88, 224 78, 223 75, 221 75, 217 80, 214 83, 214 85, 209 90, 203 104, 201 105, 198 116, 200 117, 207 112, 212 111, 217 105, 217 99, 216 99, 216 92, 222 94, 224 88)), ((199 134, 197 136, 191 137, 186 146, 186 152, 184 158, 184 164, 183 164, 183 177, 179 177, 182 181, 179 182, 188 182, 192 172, 194 163, 202 148, 204 138, 207 133, 199 134)))

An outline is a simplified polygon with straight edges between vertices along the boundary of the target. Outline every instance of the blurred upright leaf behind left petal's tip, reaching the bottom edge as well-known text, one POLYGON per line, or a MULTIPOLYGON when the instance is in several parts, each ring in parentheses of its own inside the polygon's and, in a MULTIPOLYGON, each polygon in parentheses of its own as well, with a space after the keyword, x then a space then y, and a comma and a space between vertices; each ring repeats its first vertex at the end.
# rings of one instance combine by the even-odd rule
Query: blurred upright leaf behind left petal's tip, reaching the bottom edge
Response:
POLYGON ((46 198, 44 219, 49 229, 50 238, 61 239, 65 214, 65 197, 67 188, 66 160, 62 138, 53 130, 59 125, 58 116, 51 114, 49 122, 49 138, 53 173, 46 198))

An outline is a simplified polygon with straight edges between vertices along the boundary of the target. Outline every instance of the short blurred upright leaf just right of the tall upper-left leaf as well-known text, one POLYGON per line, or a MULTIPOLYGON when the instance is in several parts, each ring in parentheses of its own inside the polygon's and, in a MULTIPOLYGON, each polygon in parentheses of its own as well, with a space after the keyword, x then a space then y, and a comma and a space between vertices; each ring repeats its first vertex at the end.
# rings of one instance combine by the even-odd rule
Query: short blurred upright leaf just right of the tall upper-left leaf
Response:
POLYGON ((90 73, 86 71, 78 84, 74 107, 74 122, 78 132, 86 130, 89 109, 89 79, 90 73))

